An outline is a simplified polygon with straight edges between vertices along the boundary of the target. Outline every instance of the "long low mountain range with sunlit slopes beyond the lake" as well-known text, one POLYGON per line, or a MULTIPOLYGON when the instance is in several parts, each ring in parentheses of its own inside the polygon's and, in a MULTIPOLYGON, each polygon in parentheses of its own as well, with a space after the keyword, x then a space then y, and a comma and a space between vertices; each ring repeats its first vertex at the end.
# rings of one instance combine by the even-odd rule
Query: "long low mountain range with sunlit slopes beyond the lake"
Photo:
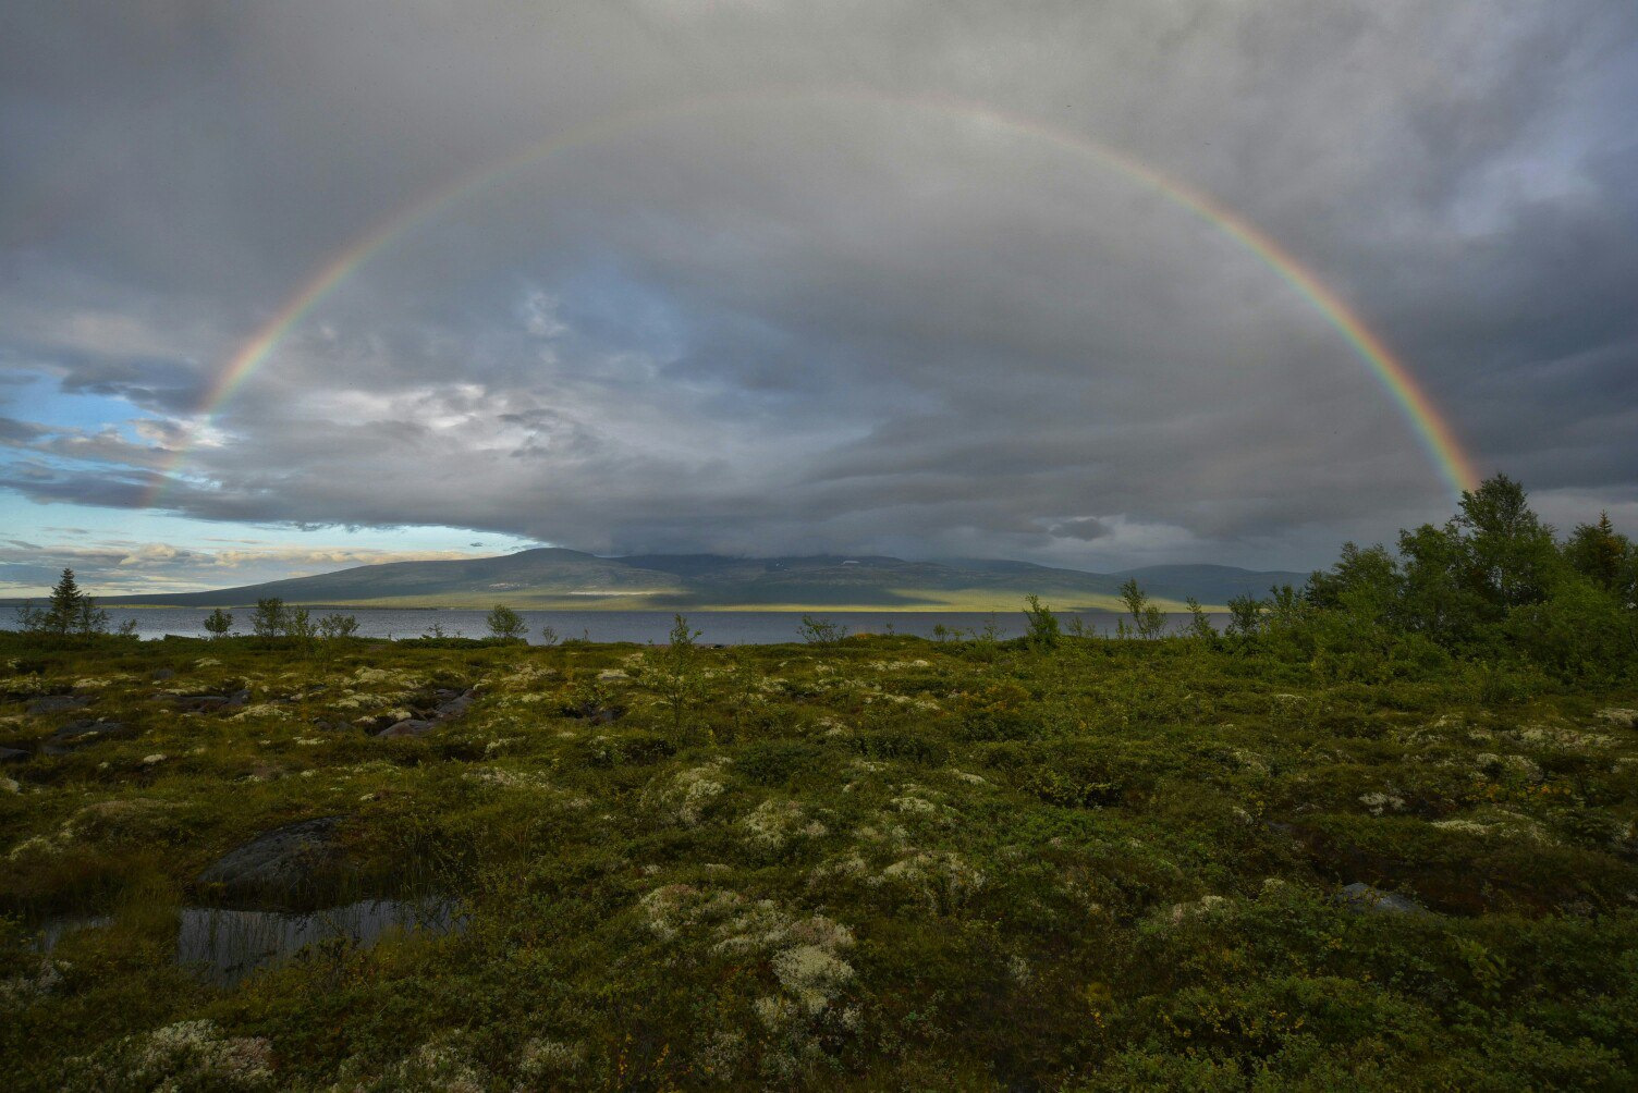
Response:
POLYGON ((1243 592, 1263 596, 1271 584, 1301 586, 1307 574, 1233 566, 1083 573, 1027 561, 904 561, 871 555, 600 558, 544 546, 495 558, 388 561, 211 592, 106 602, 238 607, 277 596, 290 604, 355 607, 1014 610, 1024 596, 1035 592, 1058 610, 1101 610, 1120 605, 1119 589, 1127 578, 1137 578, 1161 607, 1179 609, 1186 596, 1209 607, 1222 605, 1243 592))

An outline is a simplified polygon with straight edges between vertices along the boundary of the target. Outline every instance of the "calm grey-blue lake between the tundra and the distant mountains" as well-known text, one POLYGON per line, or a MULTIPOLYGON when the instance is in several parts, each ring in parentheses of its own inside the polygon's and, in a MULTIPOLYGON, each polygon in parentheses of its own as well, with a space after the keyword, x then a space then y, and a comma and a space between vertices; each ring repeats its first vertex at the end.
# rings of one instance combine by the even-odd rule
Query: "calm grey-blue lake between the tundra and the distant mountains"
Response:
MULTIPOLYGON (((13 625, 11 609, 0 609, 0 627, 13 625)), ((167 633, 203 638, 203 607, 108 607, 110 627, 120 627, 128 618, 136 620, 136 633, 143 638, 162 638, 167 633)), ((444 636, 482 638, 488 633, 483 610, 444 609, 314 609, 319 618, 333 610, 359 620, 359 635, 367 638, 419 638, 442 628, 444 636)), ((251 609, 233 612, 234 633, 251 632, 251 609)), ((672 612, 660 610, 519 610, 529 623, 529 641, 541 643, 541 628, 552 627, 559 638, 588 638, 591 641, 665 641, 672 628, 672 612)), ((998 636, 1012 638, 1024 633, 1024 612, 876 612, 876 610, 816 610, 824 618, 847 627, 848 633, 912 633, 934 636, 934 627, 945 630, 983 630, 991 622, 998 636)), ((698 610, 686 612, 688 625, 699 630, 706 645, 773 645, 801 641, 798 627, 801 612, 783 610, 698 610)), ((1089 633, 1114 633, 1119 615, 1112 612, 1060 612, 1068 625, 1079 618, 1089 633)), ((1188 623, 1188 615, 1168 615, 1173 630, 1188 623)), ((1220 617, 1214 622, 1222 625, 1220 617)))

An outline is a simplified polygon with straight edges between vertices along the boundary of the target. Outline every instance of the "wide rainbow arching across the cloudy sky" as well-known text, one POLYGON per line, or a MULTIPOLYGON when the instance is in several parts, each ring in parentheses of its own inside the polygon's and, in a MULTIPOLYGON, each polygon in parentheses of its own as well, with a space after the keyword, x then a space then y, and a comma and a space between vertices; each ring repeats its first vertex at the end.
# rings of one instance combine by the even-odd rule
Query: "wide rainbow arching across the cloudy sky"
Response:
MULTIPOLYGON (((1407 424, 1415 432, 1433 466, 1438 468, 1441 478, 1450 484, 1453 493, 1459 494, 1461 491, 1474 489, 1477 486, 1479 479, 1474 473, 1473 460, 1463 450, 1450 421, 1440 412, 1433 399, 1428 398, 1427 391, 1422 389, 1422 385, 1417 383, 1415 376, 1405 363, 1394 355, 1387 344, 1379 335, 1371 332, 1358 313, 1355 313, 1353 308, 1350 308, 1335 291, 1327 288, 1325 283, 1320 281, 1312 270, 1302 265, 1294 254, 1281 247, 1266 232, 1258 229, 1233 209, 1225 208, 1207 193, 1161 173, 1155 167, 1129 155, 1127 152, 1075 133, 1073 129, 1065 129, 1037 118, 998 110, 986 103, 953 97, 904 98, 878 92, 848 92, 835 88, 763 93, 755 97, 714 95, 598 118, 590 123, 573 126, 560 134, 541 141, 539 144, 527 146, 523 151, 500 160, 491 160, 421 195, 383 218, 373 227, 357 236, 352 242, 331 255, 288 299, 285 299, 278 311, 275 311, 272 317, 269 317, 251 335, 251 339, 239 347, 239 350, 216 375, 215 383, 211 383, 206 389, 197 412, 193 425, 195 435, 203 425, 208 424, 210 417, 216 414, 229 398, 233 398, 233 393, 238 391, 244 381, 249 380, 251 375, 272 357, 278 342, 290 332, 290 329, 295 327, 337 285, 346 281, 347 277, 387 249, 393 241, 413 232, 416 227, 421 227, 429 221, 434 221, 449 206, 477 195, 480 190, 495 185, 519 169, 539 164, 541 160, 560 152, 601 141, 611 141, 650 126, 714 110, 778 103, 886 105, 953 116, 973 124, 996 126, 1004 131, 1024 134, 1057 146, 1063 151, 1093 159, 1102 167, 1115 170, 1132 182, 1163 195, 1174 205, 1196 214, 1250 250, 1268 268, 1291 285, 1304 299, 1307 299, 1309 304, 1312 304, 1314 309, 1324 316, 1338 334, 1342 334, 1343 340, 1355 352, 1355 355, 1358 355, 1360 360, 1371 368, 1381 385, 1387 389, 1389 396, 1400 407, 1407 424)), ((149 507, 159 502, 165 486, 177 476, 190 447, 190 443, 179 445, 165 461, 146 497, 146 504, 149 507)))

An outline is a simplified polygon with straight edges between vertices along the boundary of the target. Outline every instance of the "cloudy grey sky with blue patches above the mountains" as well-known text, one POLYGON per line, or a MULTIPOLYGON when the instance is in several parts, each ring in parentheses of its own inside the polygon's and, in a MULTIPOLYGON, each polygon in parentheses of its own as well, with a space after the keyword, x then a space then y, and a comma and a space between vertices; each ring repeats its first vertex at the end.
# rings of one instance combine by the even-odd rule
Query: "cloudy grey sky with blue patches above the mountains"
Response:
POLYGON ((5 5, 0 596, 1307 569, 1433 421, 1638 532, 1635 111, 1631 0, 5 5))

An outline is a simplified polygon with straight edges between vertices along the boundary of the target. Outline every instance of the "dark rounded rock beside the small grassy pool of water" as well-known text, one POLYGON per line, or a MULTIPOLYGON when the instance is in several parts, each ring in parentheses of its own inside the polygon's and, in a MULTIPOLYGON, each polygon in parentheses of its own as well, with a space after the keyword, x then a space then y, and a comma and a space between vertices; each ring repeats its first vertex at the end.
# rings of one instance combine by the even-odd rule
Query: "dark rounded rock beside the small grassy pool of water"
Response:
POLYGON ((298 908, 334 895, 342 872, 336 830, 344 816, 318 816, 274 828, 238 846, 195 884, 211 902, 229 906, 298 908))

